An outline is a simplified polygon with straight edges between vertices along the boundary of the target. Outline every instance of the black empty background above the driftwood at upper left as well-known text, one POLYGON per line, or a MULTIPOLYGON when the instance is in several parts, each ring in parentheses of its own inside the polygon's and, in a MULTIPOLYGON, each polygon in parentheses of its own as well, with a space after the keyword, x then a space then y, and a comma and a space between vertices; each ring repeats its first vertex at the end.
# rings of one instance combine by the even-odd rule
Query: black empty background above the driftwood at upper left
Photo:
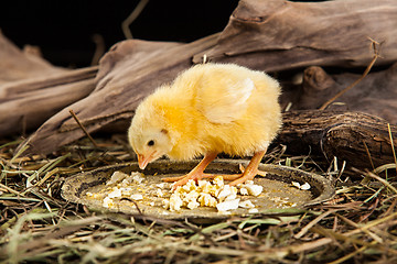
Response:
MULTIPOLYGON (((133 1, 7 1, 0 8, 0 29, 19 47, 41 48, 43 57, 65 67, 89 66, 93 35, 106 51, 125 40, 121 22, 138 4, 133 1)), ((150 0, 130 25, 135 38, 192 42, 222 31, 237 0, 150 0)))

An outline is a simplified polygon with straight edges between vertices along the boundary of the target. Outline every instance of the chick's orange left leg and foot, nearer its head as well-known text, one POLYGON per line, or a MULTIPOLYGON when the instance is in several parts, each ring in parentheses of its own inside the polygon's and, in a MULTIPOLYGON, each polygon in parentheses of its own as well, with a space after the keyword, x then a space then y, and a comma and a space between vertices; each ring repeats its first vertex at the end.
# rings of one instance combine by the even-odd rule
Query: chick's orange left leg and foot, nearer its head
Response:
POLYGON ((204 174, 204 169, 208 166, 208 164, 215 160, 217 156, 217 153, 207 153, 205 154, 204 158, 198 163, 197 166, 195 166, 189 174, 182 177, 169 177, 163 178, 164 182, 176 182, 173 186, 173 189, 175 189, 178 186, 182 186, 187 183, 189 179, 198 180, 205 177, 208 177, 208 175, 204 174))

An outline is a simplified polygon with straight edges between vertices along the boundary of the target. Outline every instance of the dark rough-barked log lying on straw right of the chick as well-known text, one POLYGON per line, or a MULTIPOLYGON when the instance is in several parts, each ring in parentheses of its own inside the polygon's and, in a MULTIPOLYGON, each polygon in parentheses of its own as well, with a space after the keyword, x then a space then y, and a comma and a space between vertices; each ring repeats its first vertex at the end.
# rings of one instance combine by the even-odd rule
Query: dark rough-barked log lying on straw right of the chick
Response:
MULTIPOLYGON (((301 110, 283 113, 283 128, 277 143, 291 154, 335 156, 347 166, 372 169, 394 163, 387 121, 361 112, 301 110)), ((397 127, 390 125, 394 145, 397 127)))

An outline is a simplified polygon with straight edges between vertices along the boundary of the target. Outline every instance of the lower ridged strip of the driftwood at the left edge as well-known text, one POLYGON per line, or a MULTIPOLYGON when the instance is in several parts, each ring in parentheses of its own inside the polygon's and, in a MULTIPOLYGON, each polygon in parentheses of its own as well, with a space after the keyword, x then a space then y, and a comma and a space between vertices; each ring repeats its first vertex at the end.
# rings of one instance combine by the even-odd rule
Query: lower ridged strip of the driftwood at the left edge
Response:
MULTIPOLYGON (((95 88, 96 67, 2 85, 0 136, 24 134, 95 88)), ((45 76, 45 75, 44 75, 45 76)))

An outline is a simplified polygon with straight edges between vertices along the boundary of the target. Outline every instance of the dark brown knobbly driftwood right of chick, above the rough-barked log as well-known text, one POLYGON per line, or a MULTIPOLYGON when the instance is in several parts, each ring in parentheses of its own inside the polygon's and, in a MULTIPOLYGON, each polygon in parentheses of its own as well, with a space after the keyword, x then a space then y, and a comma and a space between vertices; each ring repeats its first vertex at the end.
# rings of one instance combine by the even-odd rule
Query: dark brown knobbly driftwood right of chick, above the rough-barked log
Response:
MULTIPOLYGON (((292 109, 319 109, 326 100, 360 78, 358 74, 329 75, 318 66, 304 70, 301 89, 296 91, 292 109)), ((382 117, 397 124, 397 63, 366 76, 342 95, 329 109, 361 111, 382 117)))

